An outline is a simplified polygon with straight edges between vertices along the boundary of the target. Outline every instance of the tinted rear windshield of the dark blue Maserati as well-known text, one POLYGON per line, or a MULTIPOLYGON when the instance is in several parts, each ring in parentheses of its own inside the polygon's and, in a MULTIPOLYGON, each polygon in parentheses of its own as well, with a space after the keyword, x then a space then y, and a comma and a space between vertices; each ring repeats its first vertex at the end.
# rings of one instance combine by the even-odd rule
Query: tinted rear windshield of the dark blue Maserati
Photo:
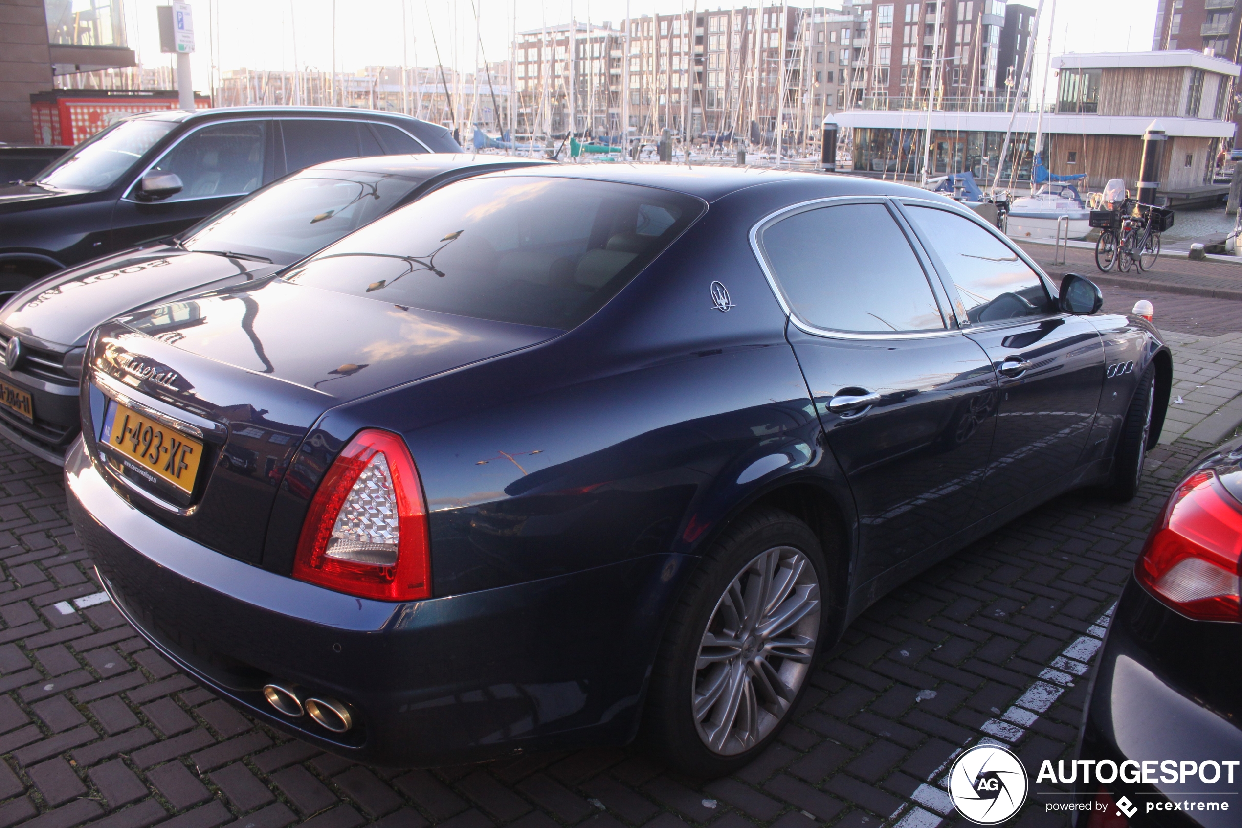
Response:
POLYGON ((484 178, 451 184, 284 278, 462 317, 568 330, 703 211, 630 184, 484 178))

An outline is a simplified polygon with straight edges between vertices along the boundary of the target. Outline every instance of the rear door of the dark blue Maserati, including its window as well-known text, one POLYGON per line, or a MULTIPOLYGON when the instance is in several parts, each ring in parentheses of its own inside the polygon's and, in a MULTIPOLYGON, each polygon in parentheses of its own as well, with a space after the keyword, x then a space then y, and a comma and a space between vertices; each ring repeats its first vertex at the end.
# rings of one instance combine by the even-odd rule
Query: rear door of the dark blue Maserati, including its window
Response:
POLYGON ((966 525, 991 448, 995 375, 887 200, 794 207, 755 242, 854 494, 867 581, 966 525))

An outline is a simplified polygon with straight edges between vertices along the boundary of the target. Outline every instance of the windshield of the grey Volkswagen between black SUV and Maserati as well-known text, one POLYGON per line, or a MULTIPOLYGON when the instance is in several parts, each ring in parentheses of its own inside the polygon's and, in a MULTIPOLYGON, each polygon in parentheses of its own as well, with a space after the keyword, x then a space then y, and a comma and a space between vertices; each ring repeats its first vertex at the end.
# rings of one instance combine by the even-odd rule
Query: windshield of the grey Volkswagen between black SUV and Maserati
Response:
POLYGON ((301 173, 191 227, 183 246, 292 264, 370 223, 420 182, 380 173, 301 173))

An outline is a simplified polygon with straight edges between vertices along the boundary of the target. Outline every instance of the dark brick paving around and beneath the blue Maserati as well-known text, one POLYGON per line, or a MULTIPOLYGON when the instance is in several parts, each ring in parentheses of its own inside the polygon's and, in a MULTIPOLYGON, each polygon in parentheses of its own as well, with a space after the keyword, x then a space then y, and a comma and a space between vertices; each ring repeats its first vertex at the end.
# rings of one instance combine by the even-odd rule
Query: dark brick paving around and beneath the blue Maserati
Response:
MULTIPOLYGON (((1067 757, 1089 663, 1149 523, 1203 449, 1151 453, 1124 505, 1059 498, 897 590, 814 674, 779 744, 707 785, 623 750, 484 766, 351 765, 179 674, 99 590, 60 469, 0 443, 0 828, 934 828, 981 739, 1067 757)), ((1018 826, 1061 826, 1037 798, 1018 826)))

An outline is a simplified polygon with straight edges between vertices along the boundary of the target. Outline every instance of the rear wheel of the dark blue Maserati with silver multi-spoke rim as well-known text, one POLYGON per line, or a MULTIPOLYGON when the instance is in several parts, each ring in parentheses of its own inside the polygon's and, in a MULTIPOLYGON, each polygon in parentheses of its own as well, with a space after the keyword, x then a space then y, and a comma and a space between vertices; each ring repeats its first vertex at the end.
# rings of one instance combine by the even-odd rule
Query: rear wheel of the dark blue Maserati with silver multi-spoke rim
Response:
MULTIPOLYGON (((696 778, 733 773, 759 756, 787 724, 810 685, 815 658, 827 649, 826 585, 820 540, 801 520, 779 509, 758 509, 729 526, 689 577, 664 631, 647 693, 643 746, 661 762, 696 778), (771 567, 773 561, 777 567, 769 571, 786 577, 797 572, 797 580, 784 598, 773 598, 776 611, 759 614, 776 617, 795 605, 801 614, 797 623, 779 627, 775 638, 764 638, 761 627, 750 633, 753 627, 730 613, 733 598, 750 603, 744 598, 764 593, 764 583, 781 582, 780 577, 756 580, 759 566, 766 562, 771 567), (712 646, 704 639, 709 631, 714 631, 712 646), (773 643, 805 641, 806 632, 815 634, 810 646, 773 643), (771 673, 764 665, 773 668, 771 673), (776 686, 773 675, 782 679, 779 693, 761 698, 776 686), (784 683, 785 678, 796 686, 784 683), (735 685, 744 686, 730 694, 735 685), (718 686, 723 689, 713 695, 718 686), (737 699, 733 709, 743 715, 728 716, 730 698, 737 699), (696 705, 700 716, 696 716, 696 705), (749 730, 748 722, 753 725, 749 730), (719 737, 717 747, 707 741, 714 737, 719 737)), ((769 601, 758 603, 773 606, 769 601)))

